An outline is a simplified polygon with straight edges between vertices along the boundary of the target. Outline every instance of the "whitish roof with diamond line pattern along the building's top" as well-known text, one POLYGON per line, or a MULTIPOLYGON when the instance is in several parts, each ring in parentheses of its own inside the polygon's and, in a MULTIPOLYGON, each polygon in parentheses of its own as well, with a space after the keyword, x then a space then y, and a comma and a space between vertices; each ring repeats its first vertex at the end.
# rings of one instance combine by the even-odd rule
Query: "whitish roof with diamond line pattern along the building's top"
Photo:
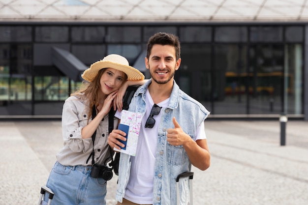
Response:
POLYGON ((305 0, 0 0, 0 21, 307 21, 305 0))

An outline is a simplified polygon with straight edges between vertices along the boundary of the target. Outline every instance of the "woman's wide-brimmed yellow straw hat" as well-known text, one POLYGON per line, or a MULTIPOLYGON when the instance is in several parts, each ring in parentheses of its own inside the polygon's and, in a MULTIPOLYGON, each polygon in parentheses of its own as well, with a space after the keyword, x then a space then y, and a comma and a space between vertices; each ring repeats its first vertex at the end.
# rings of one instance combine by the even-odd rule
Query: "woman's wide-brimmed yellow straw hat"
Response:
POLYGON ((129 66, 127 59, 117 54, 110 54, 104 59, 94 62, 90 68, 84 71, 81 77, 86 81, 92 82, 98 71, 103 68, 114 68, 124 72, 127 75, 128 81, 144 79, 144 75, 139 70, 129 66))

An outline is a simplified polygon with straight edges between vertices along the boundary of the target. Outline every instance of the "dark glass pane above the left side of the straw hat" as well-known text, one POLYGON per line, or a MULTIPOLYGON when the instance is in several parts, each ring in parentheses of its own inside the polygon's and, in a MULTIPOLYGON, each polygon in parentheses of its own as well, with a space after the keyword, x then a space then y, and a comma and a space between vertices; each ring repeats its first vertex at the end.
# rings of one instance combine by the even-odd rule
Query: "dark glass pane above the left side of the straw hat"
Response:
POLYGON ((72 45, 72 54, 86 65, 91 65, 103 59, 106 53, 105 45, 72 45))

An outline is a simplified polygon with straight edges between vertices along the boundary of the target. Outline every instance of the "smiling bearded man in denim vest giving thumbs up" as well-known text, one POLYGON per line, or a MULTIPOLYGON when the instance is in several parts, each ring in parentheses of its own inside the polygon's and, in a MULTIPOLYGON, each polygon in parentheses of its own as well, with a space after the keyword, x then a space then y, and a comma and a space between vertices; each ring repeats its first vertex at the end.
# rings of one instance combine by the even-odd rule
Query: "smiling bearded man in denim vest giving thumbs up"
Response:
MULTIPOLYGON (((129 105, 142 115, 136 156, 121 153, 118 205, 175 205, 176 178, 210 166, 204 131, 209 115, 201 103, 185 94, 174 81, 181 64, 177 36, 156 33, 148 41, 146 67, 151 79, 137 89, 129 105)), ((116 117, 121 117, 120 113, 116 117)), ((113 130, 108 144, 121 149, 125 133, 113 130)), ((181 181, 181 202, 187 204, 187 181, 181 181)))

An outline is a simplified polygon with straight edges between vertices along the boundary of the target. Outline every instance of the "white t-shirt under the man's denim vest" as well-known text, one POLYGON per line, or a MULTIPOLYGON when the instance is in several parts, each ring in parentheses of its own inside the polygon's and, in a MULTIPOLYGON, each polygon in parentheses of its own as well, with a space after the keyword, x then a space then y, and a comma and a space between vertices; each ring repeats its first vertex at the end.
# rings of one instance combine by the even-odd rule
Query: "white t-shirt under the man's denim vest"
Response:
MULTIPOLYGON (((162 111, 168 106, 169 98, 158 103, 161 107, 158 115, 153 116, 155 121, 153 128, 145 128, 146 121, 150 116, 154 105, 153 99, 146 91, 147 110, 141 121, 141 129, 138 137, 138 145, 136 156, 131 156, 131 168, 128 184, 125 190, 124 198, 136 204, 152 204, 153 203, 153 182, 154 182, 154 165, 155 152, 157 144, 157 130, 162 111), (147 166, 144 166, 144 165, 147 166)), ((121 118, 120 113, 116 113, 116 117, 121 118)), ((204 123, 202 122, 196 132, 196 140, 206 139, 204 131, 204 123)))

